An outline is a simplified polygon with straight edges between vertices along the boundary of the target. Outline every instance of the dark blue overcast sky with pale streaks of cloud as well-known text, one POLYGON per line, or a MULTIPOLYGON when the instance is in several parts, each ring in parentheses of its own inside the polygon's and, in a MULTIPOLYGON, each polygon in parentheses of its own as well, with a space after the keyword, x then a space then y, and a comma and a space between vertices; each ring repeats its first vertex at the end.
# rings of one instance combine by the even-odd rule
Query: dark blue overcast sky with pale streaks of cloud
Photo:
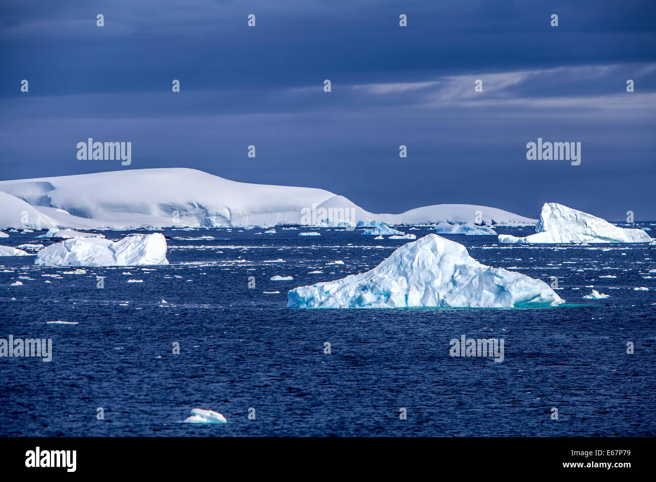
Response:
POLYGON ((193 167, 373 212, 656 220, 653 18, 630 0, 3 1, 0 179, 193 167), (89 137, 132 142, 132 164, 77 160, 89 137), (581 165, 527 160, 539 137, 581 142, 581 165))

